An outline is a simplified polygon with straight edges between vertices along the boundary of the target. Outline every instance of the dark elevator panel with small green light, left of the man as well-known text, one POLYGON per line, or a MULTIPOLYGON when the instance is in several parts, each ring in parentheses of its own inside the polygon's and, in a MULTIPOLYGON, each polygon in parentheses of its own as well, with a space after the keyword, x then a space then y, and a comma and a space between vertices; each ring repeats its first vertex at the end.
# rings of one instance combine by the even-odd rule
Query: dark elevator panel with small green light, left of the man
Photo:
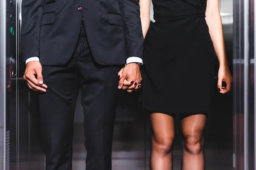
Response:
POLYGON ((5 65, 6 75, 4 83, 6 85, 5 96, 5 170, 17 169, 17 79, 16 79, 16 1, 5 0, 4 43, 6 48, 5 65))

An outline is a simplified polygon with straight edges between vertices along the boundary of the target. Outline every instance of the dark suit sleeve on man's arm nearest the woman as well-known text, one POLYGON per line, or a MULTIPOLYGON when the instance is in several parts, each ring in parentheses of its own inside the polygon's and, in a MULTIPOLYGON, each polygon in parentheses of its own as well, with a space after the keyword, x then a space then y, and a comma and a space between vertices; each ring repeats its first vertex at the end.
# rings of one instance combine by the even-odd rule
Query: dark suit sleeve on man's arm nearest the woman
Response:
POLYGON ((140 21, 140 5, 137 0, 118 0, 125 29, 127 58, 143 59, 143 33, 140 21))

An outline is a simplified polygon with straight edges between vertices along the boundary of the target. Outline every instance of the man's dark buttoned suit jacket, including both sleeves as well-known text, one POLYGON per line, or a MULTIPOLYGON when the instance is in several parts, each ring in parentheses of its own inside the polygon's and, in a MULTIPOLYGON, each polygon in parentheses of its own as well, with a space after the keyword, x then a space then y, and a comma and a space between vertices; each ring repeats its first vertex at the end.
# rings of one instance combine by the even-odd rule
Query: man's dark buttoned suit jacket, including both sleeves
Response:
POLYGON ((101 65, 143 58, 143 33, 137 0, 22 0, 23 60, 62 65, 72 56, 81 21, 94 59, 101 65))

